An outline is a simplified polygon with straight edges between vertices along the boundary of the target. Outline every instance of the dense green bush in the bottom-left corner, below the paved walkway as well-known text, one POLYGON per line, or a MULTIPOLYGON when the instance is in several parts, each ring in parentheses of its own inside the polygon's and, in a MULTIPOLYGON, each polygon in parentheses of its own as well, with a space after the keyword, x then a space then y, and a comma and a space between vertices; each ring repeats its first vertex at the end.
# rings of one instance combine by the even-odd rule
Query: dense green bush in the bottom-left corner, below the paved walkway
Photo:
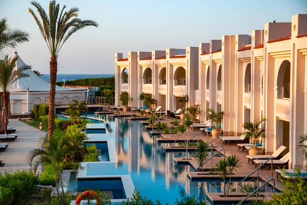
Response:
MULTIPOLYGON (((0 174, 0 187, 7 188, 13 194, 11 203, 1 204, 24 204, 36 191, 38 176, 31 171, 19 170, 15 173, 5 171, 0 174)), ((6 195, 10 194, 6 191, 6 195)))

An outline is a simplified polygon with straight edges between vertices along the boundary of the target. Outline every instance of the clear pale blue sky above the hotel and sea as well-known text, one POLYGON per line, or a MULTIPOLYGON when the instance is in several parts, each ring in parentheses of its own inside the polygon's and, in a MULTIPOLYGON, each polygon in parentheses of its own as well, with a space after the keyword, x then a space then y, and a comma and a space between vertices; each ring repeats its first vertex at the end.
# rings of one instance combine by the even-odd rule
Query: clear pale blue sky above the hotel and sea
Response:
MULTIPOLYGON (((38 0, 48 12, 49 1, 38 0)), ((81 19, 92 19, 99 28, 86 27, 71 36, 59 52, 59 74, 114 74, 114 53, 198 47, 222 35, 251 34, 268 22, 291 22, 292 15, 307 13, 307 0, 60 0, 78 7, 81 19)), ((18 55, 33 70, 49 73, 50 53, 29 13, 28 0, 0 0, 0 18, 11 28, 30 33, 19 44, 18 55)), ((11 56, 13 50, 9 50, 11 56)))

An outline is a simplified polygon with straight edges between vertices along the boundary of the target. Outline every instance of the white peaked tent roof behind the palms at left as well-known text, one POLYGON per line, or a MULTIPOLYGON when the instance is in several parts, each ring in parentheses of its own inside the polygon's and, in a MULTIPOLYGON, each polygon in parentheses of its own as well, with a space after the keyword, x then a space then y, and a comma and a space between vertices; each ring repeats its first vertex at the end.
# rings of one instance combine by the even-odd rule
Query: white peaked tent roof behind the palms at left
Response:
MULTIPOLYGON (((18 57, 16 60, 16 68, 26 65, 23 60, 18 56, 17 52, 14 53, 13 57, 18 57)), ((37 76, 31 69, 26 69, 24 73, 27 73, 29 77, 17 79, 14 84, 10 87, 9 92, 20 92, 20 91, 50 91, 50 83, 37 76)), ((69 89, 60 86, 55 87, 56 91, 80 91, 85 89, 69 89)), ((2 89, 0 88, 0 91, 2 89)))

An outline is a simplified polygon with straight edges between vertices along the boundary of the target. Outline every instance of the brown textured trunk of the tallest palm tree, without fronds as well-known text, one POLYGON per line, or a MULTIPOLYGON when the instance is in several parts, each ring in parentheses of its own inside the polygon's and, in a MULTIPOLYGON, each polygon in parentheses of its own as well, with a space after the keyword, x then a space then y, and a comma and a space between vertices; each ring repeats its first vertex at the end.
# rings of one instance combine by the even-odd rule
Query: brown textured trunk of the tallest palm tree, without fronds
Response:
POLYGON ((55 84, 57 73, 57 59, 50 58, 50 93, 49 93, 49 117, 48 117, 48 137, 51 137, 54 132, 54 117, 55 117, 55 84))

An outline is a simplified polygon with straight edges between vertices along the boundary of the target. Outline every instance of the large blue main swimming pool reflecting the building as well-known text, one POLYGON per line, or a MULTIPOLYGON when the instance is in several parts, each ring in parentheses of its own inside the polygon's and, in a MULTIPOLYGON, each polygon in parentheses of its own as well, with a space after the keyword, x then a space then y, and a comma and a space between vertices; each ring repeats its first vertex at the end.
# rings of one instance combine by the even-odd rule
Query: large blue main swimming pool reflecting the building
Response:
MULTIPOLYGON (((86 175, 128 174, 141 195, 153 201, 159 199, 162 204, 173 204, 176 198, 193 194, 203 199, 207 192, 222 192, 222 180, 190 181, 186 172, 193 168, 173 162, 174 156, 185 153, 166 153, 163 144, 158 144, 137 121, 114 118, 109 125, 114 130, 110 135, 114 138, 118 163, 89 164, 86 175)), ((232 188, 240 190, 237 181, 234 180, 232 188)))

